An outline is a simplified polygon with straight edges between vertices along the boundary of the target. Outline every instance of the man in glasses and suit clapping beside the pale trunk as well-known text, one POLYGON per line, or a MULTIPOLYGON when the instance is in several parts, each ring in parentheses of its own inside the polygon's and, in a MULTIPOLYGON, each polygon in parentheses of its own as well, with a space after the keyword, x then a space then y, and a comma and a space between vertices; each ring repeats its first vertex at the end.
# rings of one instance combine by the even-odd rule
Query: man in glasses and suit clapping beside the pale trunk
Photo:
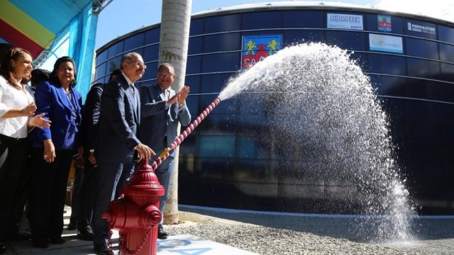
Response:
MULTIPOLYGON (((157 153, 162 152, 177 138, 179 135, 177 134, 178 123, 185 126, 191 122, 191 114, 185 103, 189 87, 184 86, 181 91, 176 92, 170 88, 173 81, 175 81, 175 68, 172 64, 165 63, 157 69, 157 84, 140 86, 140 113, 142 116, 140 139, 157 153)), ((174 157, 175 152, 170 154, 170 157, 162 162, 155 171, 157 179, 165 188, 164 196, 160 197, 159 210, 162 212, 162 220, 157 232, 159 239, 167 238, 167 233, 162 228, 163 209, 170 186, 174 157)))

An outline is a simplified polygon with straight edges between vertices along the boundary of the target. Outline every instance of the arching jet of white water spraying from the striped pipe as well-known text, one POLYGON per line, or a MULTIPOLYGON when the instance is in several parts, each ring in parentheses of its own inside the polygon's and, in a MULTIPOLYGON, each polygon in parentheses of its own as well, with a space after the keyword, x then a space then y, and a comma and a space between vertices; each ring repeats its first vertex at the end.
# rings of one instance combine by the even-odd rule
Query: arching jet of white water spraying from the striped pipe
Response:
POLYGON ((414 211, 387 115, 345 50, 323 43, 284 48, 232 77, 218 98, 233 96, 240 114, 267 120, 243 135, 260 145, 255 153, 279 162, 270 164, 270 171, 284 172, 279 181, 310 186, 309 176, 324 187, 312 196, 334 201, 321 210, 370 217, 361 224, 365 232, 372 226, 373 239, 410 238, 414 211))

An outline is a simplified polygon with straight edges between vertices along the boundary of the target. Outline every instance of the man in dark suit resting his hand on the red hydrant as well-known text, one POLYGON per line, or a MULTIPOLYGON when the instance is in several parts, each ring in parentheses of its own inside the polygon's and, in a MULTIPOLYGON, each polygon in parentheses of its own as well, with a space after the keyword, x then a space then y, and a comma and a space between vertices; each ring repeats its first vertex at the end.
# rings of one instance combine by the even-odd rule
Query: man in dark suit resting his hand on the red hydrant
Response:
POLYGON ((98 254, 111 254, 108 249, 108 225, 101 218, 111 200, 118 198, 121 188, 134 171, 134 154, 137 159, 150 160, 155 154, 138 140, 140 97, 134 82, 145 72, 142 57, 135 52, 121 59, 121 75, 104 86, 101 96, 99 132, 94 149, 99 164, 99 182, 94 210, 94 250, 98 254))

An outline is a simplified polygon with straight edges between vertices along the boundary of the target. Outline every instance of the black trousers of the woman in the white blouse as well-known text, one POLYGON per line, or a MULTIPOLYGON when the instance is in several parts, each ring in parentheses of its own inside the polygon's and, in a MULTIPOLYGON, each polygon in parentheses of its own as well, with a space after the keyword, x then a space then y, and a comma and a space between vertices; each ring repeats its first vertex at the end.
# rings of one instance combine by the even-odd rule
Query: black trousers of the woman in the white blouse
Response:
POLYGON ((26 203, 28 141, 0 134, 0 240, 15 232, 26 203))

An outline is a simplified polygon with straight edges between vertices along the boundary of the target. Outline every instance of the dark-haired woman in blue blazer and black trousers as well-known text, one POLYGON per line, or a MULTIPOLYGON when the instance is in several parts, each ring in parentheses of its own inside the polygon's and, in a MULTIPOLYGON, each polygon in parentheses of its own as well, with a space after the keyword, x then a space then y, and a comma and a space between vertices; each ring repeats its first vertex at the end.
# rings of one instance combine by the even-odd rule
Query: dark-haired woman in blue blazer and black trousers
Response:
POLYGON ((67 178, 73 157, 82 157, 79 125, 82 96, 74 90, 75 63, 60 57, 50 80, 35 91, 36 114, 45 113, 50 128, 35 128, 29 135, 31 148, 31 187, 29 215, 32 244, 47 248, 62 244, 63 208, 67 178))

